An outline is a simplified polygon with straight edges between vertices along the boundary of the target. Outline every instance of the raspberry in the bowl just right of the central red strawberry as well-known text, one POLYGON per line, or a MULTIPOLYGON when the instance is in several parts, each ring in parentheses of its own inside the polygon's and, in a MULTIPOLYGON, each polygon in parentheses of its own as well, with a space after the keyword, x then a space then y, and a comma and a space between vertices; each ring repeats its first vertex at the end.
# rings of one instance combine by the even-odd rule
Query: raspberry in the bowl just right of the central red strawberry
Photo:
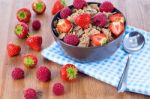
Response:
POLYGON ((98 13, 93 17, 93 23, 96 26, 104 27, 107 23, 107 16, 103 13, 98 13))

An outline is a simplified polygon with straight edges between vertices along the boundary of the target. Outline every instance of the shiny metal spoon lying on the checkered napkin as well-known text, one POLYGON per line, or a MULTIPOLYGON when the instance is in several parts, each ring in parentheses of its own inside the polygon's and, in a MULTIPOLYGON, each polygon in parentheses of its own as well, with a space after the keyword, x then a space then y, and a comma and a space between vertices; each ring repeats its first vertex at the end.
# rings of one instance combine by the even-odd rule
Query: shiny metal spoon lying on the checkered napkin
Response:
POLYGON ((139 32, 134 31, 125 36, 123 40, 123 47, 124 47, 124 50, 128 53, 128 59, 127 59, 126 66, 124 68, 123 74, 121 76, 121 79, 117 87, 118 92, 126 91, 127 76, 128 76, 128 69, 129 69, 131 54, 133 52, 136 52, 142 49, 144 44, 145 44, 145 38, 139 32))

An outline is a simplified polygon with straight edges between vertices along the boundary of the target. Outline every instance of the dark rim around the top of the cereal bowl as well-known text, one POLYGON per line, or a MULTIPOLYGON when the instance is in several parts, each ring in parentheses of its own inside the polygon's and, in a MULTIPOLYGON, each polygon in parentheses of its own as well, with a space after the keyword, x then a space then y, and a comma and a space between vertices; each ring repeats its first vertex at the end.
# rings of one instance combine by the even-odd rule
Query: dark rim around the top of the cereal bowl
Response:
MULTIPOLYGON (((101 3, 98 3, 98 2, 87 2, 87 3, 88 3, 88 4, 99 4, 99 5, 101 4, 101 3)), ((71 8, 71 7, 73 7, 73 5, 69 5, 69 6, 66 6, 66 7, 71 8)), ((117 12, 121 13, 121 14, 123 15, 123 17, 125 18, 124 25, 125 25, 125 29, 126 29, 126 26, 127 26, 126 17, 125 17, 124 14, 123 14, 120 10, 118 10, 116 7, 115 7, 115 10, 117 10, 117 12)), ((60 42, 63 43, 64 45, 67 45, 68 47, 80 48, 80 49, 95 49, 95 48, 107 47, 107 46, 111 45, 112 43, 114 43, 117 39, 119 39, 120 37, 122 37, 122 36, 124 35, 124 32, 125 32, 125 29, 124 29, 124 31, 122 32, 121 35, 119 35, 116 39, 112 40, 111 42, 109 42, 109 43, 107 43, 106 45, 103 45, 103 46, 81 47, 81 46, 70 45, 70 44, 67 44, 67 43, 63 42, 62 40, 60 40, 60 39, 56 36, 56 34, 55 34, 55 32, 56 32, 56 33, 58 33, 58 32, 54 29, 54 21, 55 21, 55 19, 57 19, 57 17, 59 16, 59 14, 60 14, 60 11, 59 11, 58 13, 56 13, 56 14, 54 15, 54 17, 52 18, 52 21, 51 21, 51 30, 52 30, 52 32, 53 32, 52 34, 53 34, 53 36, 55 36, 55 38, 56 38, 58 41, 60 41, 60 42)), ((57 41, 56 41, 56 42, 57 42, 57 41)))

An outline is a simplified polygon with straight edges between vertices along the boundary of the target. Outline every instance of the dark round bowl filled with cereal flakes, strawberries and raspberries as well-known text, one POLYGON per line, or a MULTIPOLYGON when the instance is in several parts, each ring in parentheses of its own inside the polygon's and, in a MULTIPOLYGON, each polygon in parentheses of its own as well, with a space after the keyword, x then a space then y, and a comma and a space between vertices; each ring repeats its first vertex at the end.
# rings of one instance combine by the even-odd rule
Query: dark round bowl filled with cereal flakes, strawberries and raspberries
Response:
POLYGON ((122 41, 126 19, 105 1, 74 0, 53 18, 51 28, 64 52, 75 60, 101 60, 111 56, 122 41))

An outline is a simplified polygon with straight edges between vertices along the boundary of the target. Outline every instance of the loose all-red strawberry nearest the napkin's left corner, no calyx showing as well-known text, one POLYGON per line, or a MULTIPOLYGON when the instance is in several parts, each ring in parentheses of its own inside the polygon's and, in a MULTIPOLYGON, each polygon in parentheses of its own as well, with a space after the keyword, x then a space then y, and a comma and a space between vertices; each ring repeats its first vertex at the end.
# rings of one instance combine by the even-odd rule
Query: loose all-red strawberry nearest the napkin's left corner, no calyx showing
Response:
POLYGON ((26 44, 35 51, 41 50, 42 37, 41 36, 30 36, 26 39, 26 44))

